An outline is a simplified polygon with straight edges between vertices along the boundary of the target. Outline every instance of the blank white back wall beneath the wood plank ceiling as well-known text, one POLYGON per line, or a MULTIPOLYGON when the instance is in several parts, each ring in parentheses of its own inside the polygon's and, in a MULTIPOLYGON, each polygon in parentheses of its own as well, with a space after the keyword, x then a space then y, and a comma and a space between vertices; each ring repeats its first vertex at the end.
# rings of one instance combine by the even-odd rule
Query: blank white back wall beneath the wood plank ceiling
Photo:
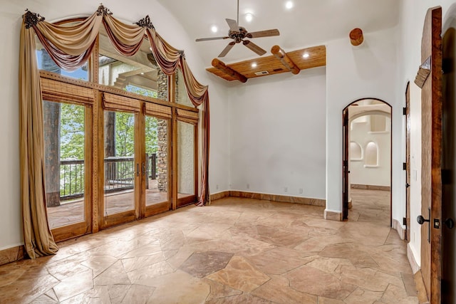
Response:
POLYGON ((229 89, 232 189, 325 198, 325 90, 325 68, 229 89))

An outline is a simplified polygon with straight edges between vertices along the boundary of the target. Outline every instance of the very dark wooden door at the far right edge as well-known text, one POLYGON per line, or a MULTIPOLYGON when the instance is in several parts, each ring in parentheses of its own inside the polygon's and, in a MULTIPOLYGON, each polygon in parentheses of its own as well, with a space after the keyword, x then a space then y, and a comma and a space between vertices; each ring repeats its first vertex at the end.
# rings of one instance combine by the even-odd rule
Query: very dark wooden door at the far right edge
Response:
POLYGON ((442 303, 456 303, 456 16, 450 18, 442 42, 442 303))

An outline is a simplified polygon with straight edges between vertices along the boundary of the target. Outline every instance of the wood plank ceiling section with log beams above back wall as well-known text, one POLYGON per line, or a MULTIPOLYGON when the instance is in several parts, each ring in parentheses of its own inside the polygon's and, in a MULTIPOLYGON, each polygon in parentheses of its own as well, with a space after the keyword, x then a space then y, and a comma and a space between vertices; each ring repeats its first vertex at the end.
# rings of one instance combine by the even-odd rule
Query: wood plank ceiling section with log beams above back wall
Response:
MULTIPOLYGON (((289 63, 296 65, 296 68, 299 68, 299 70, 326 65, 325 46, 302 48, 300 50, 286 52, 285 54, 286 57, 289 58, 289 63), (304 54, 308 54, 309 56, 304 57, 304 54)), ((237 63, 229 63, 227 65, 224 65, 224 63, 214 59, 212 61, 212 65, 214 65, 214 67, 206 69, 209 73, 217 75, 224 80, 239 80, 243 83, 249 78, 257 78, 279 73, 291 73, 293 70, 288 64, 286 64, 286 61, 280 60, 280 58, 274 55, 250 59, 248 61, 240 61, 237 63), (253 67, 253 64, 256 64, 256 66, 253 67), (217 66, 217 68, 215 66, 217 66)))

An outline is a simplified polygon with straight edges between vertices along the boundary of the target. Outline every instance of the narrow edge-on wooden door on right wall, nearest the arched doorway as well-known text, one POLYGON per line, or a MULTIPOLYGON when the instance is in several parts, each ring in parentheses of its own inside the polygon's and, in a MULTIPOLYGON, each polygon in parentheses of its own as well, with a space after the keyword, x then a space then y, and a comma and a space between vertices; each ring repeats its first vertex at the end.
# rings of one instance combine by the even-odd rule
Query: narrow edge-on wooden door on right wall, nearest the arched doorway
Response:
POLYGON ((410 83, 405 90, 405 239, 410 241, 410 83))

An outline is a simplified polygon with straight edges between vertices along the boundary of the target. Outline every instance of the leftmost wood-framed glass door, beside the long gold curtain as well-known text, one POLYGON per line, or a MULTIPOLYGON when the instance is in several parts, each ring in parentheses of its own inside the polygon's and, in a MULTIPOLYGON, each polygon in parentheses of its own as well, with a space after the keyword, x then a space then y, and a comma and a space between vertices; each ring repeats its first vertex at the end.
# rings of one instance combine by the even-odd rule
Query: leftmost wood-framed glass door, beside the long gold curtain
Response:
POLYGON ((70 239, 91 230, 91 139, 86 134, 92 110, 47 93, 43 96, 48 223, 56 240, 70 239))

